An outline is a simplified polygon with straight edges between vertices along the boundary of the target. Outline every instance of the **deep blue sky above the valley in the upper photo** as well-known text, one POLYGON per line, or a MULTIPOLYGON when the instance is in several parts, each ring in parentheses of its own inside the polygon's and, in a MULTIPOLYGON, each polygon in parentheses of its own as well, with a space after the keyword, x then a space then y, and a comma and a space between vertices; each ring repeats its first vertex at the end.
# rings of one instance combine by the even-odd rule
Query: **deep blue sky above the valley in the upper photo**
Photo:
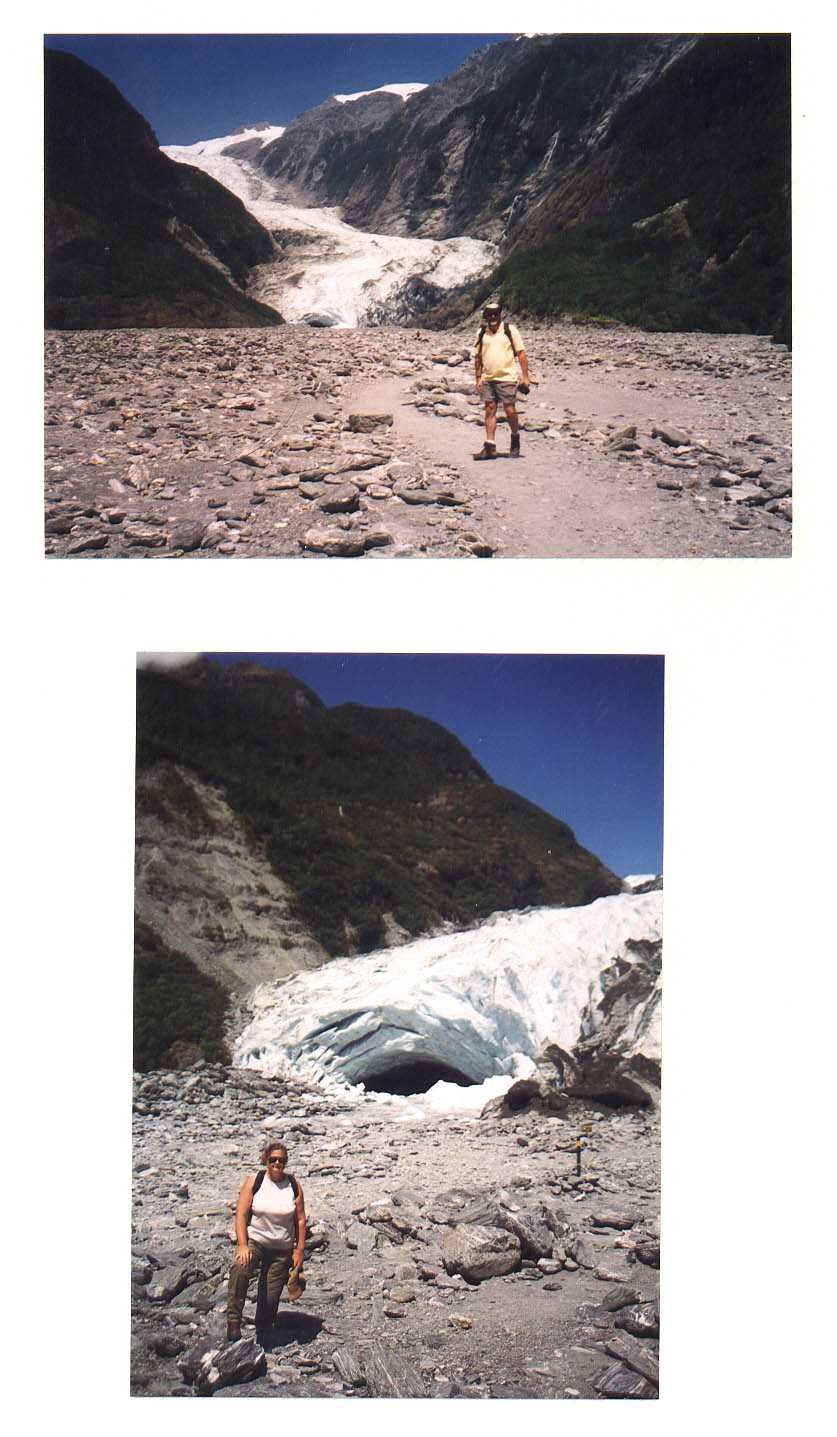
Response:
POLYGON ((286 125, 329 95, 443 79, 508 34, 47 34, 108 76, 161 145, 286 125))

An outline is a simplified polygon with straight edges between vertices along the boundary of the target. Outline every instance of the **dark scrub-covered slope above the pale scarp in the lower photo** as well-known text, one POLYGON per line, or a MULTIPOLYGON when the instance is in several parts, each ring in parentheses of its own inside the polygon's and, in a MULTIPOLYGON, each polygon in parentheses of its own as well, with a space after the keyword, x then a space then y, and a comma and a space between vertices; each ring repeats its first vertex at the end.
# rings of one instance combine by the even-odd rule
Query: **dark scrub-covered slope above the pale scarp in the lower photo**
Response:
POLYGON ((223 792, 331 954, 621 890, 565 823, 495 785, 439 724, 329 710, 257 664, 140 673, 137 762, 141 785, 168 763, 223 792))

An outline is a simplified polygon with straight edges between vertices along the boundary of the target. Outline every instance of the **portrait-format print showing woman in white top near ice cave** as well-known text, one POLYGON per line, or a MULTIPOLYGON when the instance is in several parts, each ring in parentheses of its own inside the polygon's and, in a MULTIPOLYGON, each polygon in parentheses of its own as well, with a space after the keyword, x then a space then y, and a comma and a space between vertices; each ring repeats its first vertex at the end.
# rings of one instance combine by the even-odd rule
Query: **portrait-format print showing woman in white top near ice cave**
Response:
POLYGON ((131 1394, 656 1400, 663 658, 141 654, 131 1394))

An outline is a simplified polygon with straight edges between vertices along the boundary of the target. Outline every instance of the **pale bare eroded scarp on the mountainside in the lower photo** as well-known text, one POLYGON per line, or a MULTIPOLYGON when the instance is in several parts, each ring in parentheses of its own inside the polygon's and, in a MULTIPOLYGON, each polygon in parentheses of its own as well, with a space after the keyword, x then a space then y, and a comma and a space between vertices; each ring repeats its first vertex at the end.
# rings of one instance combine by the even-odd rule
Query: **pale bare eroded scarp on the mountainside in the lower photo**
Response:
POLYGON ((135 914, 232 992, 325 963, 223 793, 171 763, 137 783, 135 914))

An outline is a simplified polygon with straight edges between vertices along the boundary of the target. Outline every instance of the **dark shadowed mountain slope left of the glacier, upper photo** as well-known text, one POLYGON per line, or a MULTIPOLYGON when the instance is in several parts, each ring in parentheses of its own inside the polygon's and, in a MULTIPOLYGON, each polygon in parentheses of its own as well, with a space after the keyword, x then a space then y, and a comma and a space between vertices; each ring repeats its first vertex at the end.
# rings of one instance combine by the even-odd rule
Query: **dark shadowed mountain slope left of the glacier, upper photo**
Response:
POLYGON ((279 325, 244 293, 273 241, 240 200, 161 154, 147 121, 73 55, 45 56, 46 325, 279 325))

